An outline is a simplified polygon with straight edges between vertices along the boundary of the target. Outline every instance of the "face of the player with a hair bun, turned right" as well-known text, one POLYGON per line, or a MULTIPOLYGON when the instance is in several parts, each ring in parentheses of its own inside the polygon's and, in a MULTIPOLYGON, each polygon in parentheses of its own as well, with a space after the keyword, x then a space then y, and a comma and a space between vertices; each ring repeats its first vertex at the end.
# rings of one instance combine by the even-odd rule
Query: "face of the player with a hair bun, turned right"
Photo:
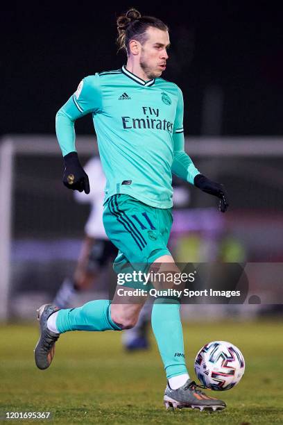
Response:
POLYGON ((146 33, 147 40, 141 46, 139 63, 149 79, 157 78, 166 69, 166 60, 169 58, 167 54, 170 45, 169 33, 152 26, 146 33))

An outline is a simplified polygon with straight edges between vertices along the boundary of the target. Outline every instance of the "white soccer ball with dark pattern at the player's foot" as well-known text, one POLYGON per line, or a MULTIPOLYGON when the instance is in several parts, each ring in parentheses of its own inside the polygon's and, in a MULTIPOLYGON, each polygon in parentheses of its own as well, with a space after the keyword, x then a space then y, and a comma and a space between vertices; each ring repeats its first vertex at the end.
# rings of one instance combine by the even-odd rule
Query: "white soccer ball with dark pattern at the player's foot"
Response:
POLYGON ((212 341, 198 351, 194 368, 206 388, 224 391, 241 381, 245 360, 241 351, 230 342, 212 341))

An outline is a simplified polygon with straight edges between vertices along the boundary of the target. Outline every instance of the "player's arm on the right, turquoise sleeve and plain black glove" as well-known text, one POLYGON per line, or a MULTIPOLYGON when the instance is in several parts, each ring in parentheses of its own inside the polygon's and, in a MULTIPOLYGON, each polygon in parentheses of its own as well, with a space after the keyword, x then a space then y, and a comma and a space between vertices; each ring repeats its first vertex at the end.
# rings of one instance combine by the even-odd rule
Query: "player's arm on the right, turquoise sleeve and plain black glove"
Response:
POLYGON ((185 152, 185 138, 183 130, 184 101, 180 89, 178 90, 178 93, 178 106, 173 126, 174 158, 171 167, 172 173, 192 185, 195 185, 200 190, 203 190, 203 192, 218 197, 220 199, 219 209, 222 213, 225 213, 229 203, 224 186, 220 183, 211 181, 209 178, 203 176, 203 174, 200 174, 189 155, 185 152))

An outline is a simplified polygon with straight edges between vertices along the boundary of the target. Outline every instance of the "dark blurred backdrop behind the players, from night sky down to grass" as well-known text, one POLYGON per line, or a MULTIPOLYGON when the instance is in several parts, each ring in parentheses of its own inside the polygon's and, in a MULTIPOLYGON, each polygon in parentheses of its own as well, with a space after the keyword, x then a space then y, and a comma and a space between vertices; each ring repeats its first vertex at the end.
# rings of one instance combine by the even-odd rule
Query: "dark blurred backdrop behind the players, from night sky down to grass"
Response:
MULTIPOLYGON (((186 151, 230 197, 223 215, 216 199, 174 181, 173 256, 261 265, 248 274, 250 296, 261 304, 247 297, 240 306, 190 305, 184 315, 282 314, 282 10, 265 2, 31 1, 1 13, 0 319, 34 317, 74 273, 91 206, 62 185, 55 113, 81 78, 126 63, 115 23, 130 6, 169 25, 164 78, 184 94, 186 151)), ((90 115, 76 122, 76 133, 86 163, 97 155, 90 115)), ((107 278, 75 303, 100 298, 107 278)))

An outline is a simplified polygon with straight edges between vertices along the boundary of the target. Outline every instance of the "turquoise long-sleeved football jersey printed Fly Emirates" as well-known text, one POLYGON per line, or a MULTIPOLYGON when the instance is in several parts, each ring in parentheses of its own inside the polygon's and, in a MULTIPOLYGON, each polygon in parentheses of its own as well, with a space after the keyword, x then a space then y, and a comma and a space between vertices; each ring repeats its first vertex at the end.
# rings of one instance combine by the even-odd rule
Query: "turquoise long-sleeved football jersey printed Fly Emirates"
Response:
POLYGON ((91 113, 107 180, 105 201, 123 193, 170 208, 172 173, 189 183, 199 174, 184 151, 183 110, 177 85, 141 80, 123 66, 80 82, 56 115, 56 134, 63 155, 76 151, 74 122, 91 113))

